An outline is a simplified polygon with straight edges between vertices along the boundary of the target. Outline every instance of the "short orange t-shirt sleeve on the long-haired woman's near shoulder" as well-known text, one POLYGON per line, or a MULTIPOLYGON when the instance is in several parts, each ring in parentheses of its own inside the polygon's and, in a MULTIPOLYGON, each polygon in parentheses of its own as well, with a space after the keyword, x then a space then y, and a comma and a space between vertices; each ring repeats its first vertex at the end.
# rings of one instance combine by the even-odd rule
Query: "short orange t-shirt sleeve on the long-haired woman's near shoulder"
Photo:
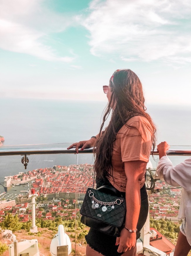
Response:
MULTIPOLYGON (((142 117, 132 122, 127 122, 127 125, 132 126, 129 128, 124 125, 120 129, 120 146, 122 161, 136 161, 141 160, 149 162, 153 142, 153 130, 146 119, 141 120, 142 117)), ((132 118, 133 119, 133 118, 132 118)))

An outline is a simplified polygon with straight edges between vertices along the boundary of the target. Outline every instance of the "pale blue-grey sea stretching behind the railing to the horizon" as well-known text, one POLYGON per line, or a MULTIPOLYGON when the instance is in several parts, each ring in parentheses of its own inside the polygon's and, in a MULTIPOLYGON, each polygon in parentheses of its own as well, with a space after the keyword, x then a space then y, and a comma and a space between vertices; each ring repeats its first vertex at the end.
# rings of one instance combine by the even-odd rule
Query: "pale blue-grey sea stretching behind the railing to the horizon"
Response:
MULTIPOLYGON (((0 135, 5 139, 1 147, 68 147, 89 139, 98 134, 106 105, 106 101, 0 98, 0 135)), ((167 141, 172 149, 191 149, 191 106, 148 104, 146 107, 157 127, 157 143, 167 141)), ((30 155, 25 170, 21 158, 0 156, 0 183, 5 176, 18 172, 94 162, 93 154, 30 155)), ((157 158, 151 157, 154 168, 157 158)), ((178 164, 186 158, 170 159, 178 164)), ((3 190, 0 186, 0 191, 3 190)))

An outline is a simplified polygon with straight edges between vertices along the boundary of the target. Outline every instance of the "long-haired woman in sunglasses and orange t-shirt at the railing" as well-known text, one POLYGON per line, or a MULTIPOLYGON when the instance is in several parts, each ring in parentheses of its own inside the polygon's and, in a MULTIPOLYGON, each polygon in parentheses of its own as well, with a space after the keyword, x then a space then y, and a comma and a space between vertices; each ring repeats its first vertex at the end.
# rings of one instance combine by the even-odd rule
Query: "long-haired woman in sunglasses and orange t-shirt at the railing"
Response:
POLYGON ((90 228, 86 236, 86 256, 137 255, 140 237, 148 214, 145 188, 146 164, 155 146, 155 126, 145 112, 142 85, 130 69, 116 70, 109 86, 104 86, 108 107, 98 135, 72 144, 76 152, 95 146, 96 184, 109 184, 126 195, 127 214, 120 237, 109 236, 90 228), (112 112, 108 127, 102 131, 112 112), (133 232, 131 232, 131 231, 133 232))

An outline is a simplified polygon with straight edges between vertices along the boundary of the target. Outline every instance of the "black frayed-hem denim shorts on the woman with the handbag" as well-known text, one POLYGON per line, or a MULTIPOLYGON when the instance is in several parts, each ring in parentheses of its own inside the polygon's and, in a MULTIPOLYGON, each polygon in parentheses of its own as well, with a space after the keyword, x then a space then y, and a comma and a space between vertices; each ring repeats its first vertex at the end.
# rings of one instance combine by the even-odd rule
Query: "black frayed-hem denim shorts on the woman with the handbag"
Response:
MULTIPOLYGON (((96 184, 98 188, 102 185, 106 185, 106 184, 108 185, 108 182, 101 184, 101 182, 96 181, 96 184)), ((141 193, 141 207, 140 207, 139 219, 137 223, 137 239, 140 237, 141 228, 144 226, 146 222, 148 211, 149 211, 149 202, 148 202, 148 196, 147 196, 145 185, 141 188, 140 193, 141 193)), ((125 196, 124 194, 125 193, 123 193, 123 196, 125 196)), ((90 228, 85 238, 86 238, 87 244, 92 249, 94 249, 97 252, 100 252, 105 256, 120 256, 123 254, 123 253, 117 252, 118 245, 115 245, 116 243, 115 236, 105 235, 104 233, 101 233, 93 228, 90 228)))

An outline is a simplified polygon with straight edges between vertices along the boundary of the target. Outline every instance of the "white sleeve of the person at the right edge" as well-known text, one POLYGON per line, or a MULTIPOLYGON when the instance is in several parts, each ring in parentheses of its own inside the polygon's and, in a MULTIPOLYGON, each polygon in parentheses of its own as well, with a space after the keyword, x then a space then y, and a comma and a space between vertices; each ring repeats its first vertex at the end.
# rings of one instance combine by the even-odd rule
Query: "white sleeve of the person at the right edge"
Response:
POLYGON ((191 192, 191 158, 173 166, 167 156, 161 157, 156 169, 159 179, 174 187, 181 186, 191 192))

